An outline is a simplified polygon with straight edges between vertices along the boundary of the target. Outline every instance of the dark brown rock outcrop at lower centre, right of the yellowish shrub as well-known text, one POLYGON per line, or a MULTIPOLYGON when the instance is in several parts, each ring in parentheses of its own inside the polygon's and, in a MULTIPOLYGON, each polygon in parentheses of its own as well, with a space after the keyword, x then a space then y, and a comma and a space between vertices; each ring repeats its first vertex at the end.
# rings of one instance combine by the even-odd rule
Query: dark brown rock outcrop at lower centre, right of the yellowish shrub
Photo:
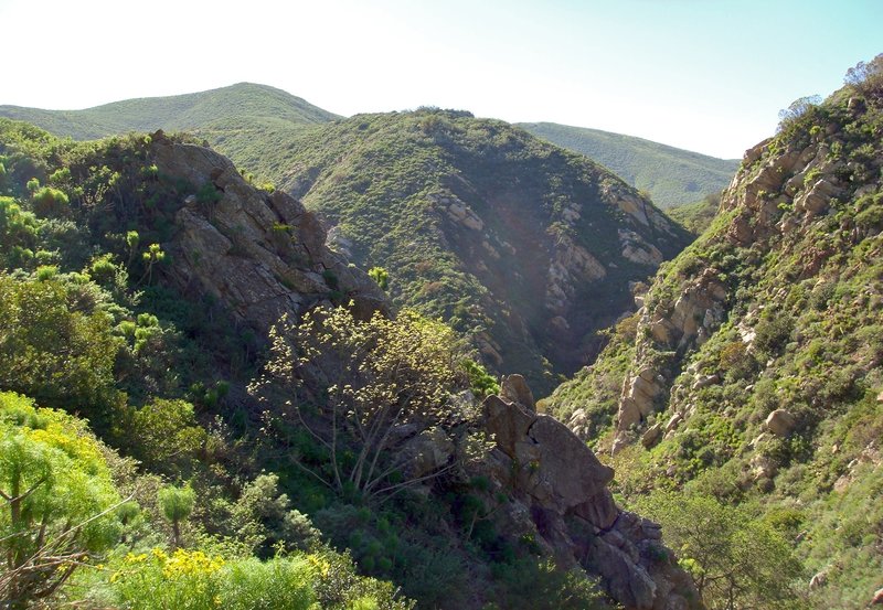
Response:
POLYGON ((700 608, 690 578, 661 543, 659 525, 616 506, 607 488, 613 470, 566 426, 525 407, 499 396, 482 405, 485 428, 496 440, 485 468, 498 489, 513 495, 500 517, 502 529, 530 532, 562 567, 581 565, 600 575, 627 609, 700 608))

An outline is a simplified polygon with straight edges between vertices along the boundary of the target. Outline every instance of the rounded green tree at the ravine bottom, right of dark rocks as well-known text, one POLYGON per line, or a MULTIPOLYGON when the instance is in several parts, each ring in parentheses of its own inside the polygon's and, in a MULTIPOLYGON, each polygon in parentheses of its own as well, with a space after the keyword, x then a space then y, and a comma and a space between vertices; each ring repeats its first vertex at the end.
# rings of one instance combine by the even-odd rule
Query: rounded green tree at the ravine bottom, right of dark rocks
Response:
POLYGON ((637 510, 662 525, 710 609, 799 608, 792 585, 800 561, 778 532, 746 510, 670 492, 655 492, 637 510))

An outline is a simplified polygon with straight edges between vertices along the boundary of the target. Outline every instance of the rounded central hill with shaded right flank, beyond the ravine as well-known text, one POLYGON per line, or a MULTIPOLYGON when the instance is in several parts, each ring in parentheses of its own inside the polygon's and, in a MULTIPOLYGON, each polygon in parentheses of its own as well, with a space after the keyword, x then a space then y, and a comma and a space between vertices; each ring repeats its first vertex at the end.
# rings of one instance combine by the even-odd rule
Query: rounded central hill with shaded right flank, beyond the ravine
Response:
POLYGON ((594 356, 629 282, 688 239, 588 159, 462 111, 313 128, 280 185, 353 261, 389 270, 395 302, 476 335, 491 366, 542 394, 594 356))

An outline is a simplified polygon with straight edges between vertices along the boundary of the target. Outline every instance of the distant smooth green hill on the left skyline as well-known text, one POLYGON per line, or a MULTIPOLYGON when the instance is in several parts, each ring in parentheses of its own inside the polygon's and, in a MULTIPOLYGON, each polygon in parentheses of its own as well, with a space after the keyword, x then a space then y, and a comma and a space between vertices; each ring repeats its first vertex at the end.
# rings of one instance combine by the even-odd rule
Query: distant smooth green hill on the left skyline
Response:
POLYGON ((339 118, 286 92, 252 83, 127 99, 84 110, 0 106, 0 117, 24 120, 75 140, 157 129, 189 131, 256 172, 262 181, 272 181, 281 172, 287 147, 305 126, 339 118))

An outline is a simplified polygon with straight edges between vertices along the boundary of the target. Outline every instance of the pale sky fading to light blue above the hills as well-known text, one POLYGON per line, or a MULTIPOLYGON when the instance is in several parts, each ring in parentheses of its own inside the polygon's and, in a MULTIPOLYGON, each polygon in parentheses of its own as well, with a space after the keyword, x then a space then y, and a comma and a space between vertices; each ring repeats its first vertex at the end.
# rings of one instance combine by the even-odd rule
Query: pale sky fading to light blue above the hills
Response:
POLYGON ((240 82, 350 116, 438 106, 721 158, 883 53, 883 0, 0 0, 0 104, 240 82))

